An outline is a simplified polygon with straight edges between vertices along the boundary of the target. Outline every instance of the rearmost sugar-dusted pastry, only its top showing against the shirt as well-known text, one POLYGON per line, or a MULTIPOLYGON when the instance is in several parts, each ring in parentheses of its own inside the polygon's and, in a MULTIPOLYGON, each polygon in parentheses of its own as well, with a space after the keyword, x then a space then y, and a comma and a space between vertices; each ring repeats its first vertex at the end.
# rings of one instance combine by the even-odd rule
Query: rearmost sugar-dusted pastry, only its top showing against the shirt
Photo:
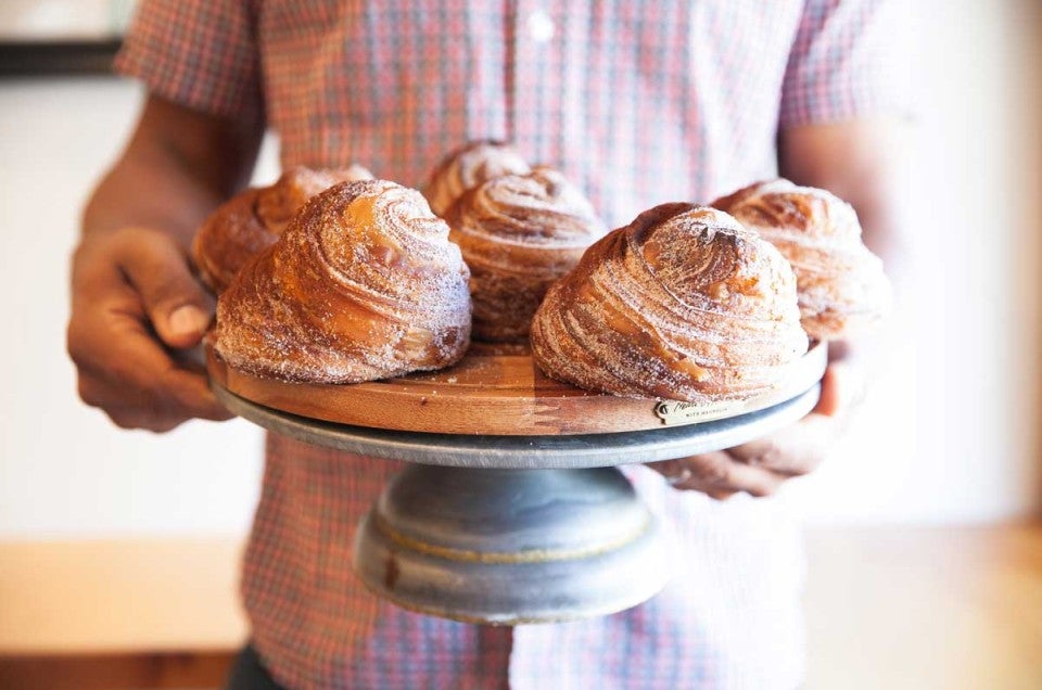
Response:
POLYGON ((500 175, 524 175, 532 170, 517 149, 491 139, 472 141, 450 152, 439 163, 423 188, 431 210, 439 216, 467 190, 500 175))

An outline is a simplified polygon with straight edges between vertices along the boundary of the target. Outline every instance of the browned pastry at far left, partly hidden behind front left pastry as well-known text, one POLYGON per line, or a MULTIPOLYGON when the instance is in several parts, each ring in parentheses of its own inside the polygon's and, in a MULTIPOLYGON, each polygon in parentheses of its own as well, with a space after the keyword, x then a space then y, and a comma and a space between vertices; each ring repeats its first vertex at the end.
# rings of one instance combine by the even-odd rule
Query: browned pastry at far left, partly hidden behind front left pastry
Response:
POLYGON ((220 294, 246 259, 270 246, 304 203, 338 182, 369 180, 360 165, 342 170, 287 170, 270 187, 247 189, 221 204, 199 228, 192 259, 211 290, 220 294))

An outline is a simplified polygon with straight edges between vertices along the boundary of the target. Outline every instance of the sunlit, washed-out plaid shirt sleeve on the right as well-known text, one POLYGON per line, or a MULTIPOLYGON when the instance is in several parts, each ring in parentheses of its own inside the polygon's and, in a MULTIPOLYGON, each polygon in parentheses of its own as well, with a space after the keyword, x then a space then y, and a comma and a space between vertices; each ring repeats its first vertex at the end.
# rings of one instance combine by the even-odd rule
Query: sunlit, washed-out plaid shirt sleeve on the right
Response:
POLYGON ((806 0, 782 87, 778 126, 901 115, 901 0, 806 0))

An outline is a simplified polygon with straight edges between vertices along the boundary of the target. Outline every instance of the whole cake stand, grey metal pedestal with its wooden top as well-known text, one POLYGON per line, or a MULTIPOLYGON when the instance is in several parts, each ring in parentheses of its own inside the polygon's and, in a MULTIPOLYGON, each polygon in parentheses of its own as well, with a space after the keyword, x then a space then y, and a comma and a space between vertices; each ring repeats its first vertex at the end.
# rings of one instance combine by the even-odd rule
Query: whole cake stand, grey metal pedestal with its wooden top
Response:
POLYGON ((670 539, 618 467, 727 448, 813 409, 826 348, 770 394, 695 406, 595 395, 524 349, 472 347, 435 373, 343 386, 257 379, 213 350, 218 399, 269 431, 405 460, 359 525, 354 568, 412 611, 517 625, 603 615, 657 593, 670 539))

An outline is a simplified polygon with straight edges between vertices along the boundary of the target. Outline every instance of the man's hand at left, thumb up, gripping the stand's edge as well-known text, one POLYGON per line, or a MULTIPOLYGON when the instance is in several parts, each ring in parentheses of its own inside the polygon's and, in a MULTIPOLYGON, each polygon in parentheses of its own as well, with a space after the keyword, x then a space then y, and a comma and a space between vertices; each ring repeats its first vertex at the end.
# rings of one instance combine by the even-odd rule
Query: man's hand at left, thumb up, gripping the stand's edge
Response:
POLYGON ((154 432, 232 417, 178 352, 202 340, 213 298, 173 237, 147 228, 86 235, 72 297, 67 346, 85 403, 124 429, 154 432))

